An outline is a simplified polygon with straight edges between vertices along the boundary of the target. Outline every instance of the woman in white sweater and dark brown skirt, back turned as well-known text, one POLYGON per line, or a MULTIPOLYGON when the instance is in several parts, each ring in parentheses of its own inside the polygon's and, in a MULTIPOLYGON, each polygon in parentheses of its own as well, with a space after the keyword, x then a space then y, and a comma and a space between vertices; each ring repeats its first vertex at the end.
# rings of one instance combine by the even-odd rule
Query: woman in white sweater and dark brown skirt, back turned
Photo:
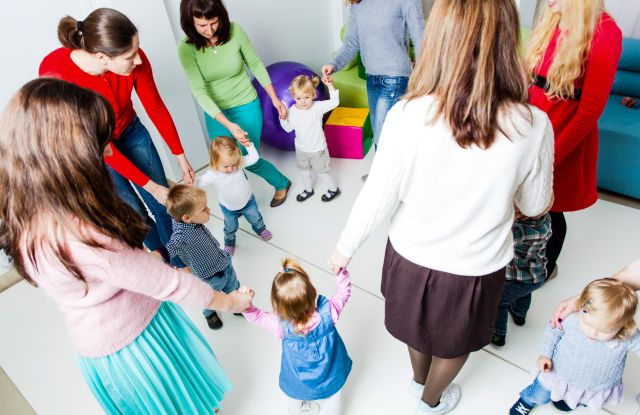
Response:
POLYGON ((329 259, 339 272, 391 216, 385 325, 407 344, 416 414, 445 414, 451 382, 489 344, 515 209, 551 201, 553 135, 527 105, 512 0, 440 0, 403 100, 389 111, 371 173, 329 259))

